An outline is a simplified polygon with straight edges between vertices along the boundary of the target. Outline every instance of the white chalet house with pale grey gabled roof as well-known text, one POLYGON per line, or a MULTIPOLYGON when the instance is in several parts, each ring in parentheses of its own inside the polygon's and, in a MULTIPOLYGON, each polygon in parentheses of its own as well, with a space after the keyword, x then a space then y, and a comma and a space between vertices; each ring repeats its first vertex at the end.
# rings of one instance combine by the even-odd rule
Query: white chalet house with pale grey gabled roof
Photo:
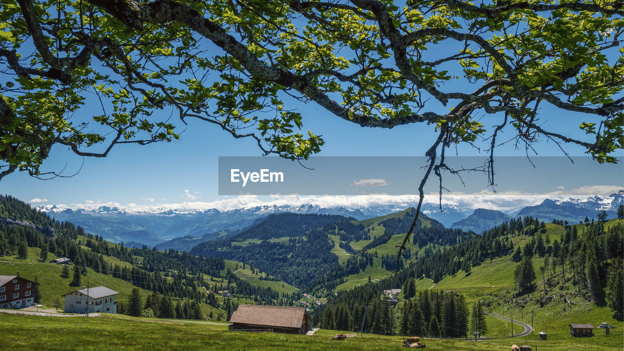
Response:
MULTIPOLYGON (((84 287, 83 287, 84 288, 84 287)), ((61 295, 65 297, 65 312, 85 314, 89 313, 117 313, 117 302, 115 295, 119 294, 115 290, 107 287, 93 287, 72 291, 61 295)))

